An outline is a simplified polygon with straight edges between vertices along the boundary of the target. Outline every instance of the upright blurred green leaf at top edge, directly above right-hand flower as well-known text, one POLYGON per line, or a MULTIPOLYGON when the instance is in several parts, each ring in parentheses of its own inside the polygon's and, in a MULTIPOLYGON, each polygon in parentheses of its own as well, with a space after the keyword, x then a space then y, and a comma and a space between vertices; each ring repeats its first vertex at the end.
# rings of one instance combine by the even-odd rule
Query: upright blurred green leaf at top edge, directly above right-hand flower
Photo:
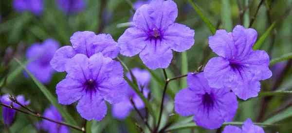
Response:
POLYGON ((221 7, 221 21, 223 24, 223 28, 227 31, 232 30, 232 18, 231 18, 231 7, 230 7, 230 0, 221 0, 222 7, 221 7))

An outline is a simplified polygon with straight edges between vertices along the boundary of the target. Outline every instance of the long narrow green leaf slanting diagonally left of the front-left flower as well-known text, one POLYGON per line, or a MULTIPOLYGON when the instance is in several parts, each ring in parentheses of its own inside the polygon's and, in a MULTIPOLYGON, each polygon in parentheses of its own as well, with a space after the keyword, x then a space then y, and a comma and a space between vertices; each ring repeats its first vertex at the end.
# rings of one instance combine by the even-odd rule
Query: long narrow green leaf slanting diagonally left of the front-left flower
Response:
POLYGON ((76 121, 72 118, 72 116, 64 109, 60 104, 58 104, 55 96, 42 84, 37 78, 31 74, 25 66, 16 58, 14 58, 18 64, 26 71, 26 73, 33 79, 37 87, 41 90, 41 92, 46 96, 46 98, 58 109, 58 111, 62 114, 63 118, 71 125, 77 125, 76 121))

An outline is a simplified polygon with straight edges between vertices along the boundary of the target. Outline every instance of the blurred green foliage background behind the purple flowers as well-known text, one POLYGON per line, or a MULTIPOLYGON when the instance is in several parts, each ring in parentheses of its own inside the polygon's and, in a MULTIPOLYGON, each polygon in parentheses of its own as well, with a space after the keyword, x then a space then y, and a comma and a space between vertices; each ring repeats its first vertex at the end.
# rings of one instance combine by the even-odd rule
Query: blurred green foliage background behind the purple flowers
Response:
MULTIPOLYGON (((14 57, 25 62, 25 51, 33 43, 43 42, 48 38, 54 38, 62 45, 70 45, 70 36, 75 31, 94 31, 98 33, 110 33, 114 40, 117 40, 127 27, 117 27, 120 23, 128 22, 133 15, 133 10, 127 1, 135 0, 86 0, 86 8, 74 15, 65 15, 60 11, 55 0, 44 0, 44 12, 40 16, 29 12, 17 13, 12 7, 12 0, 0 1, 0 80, 9 77, 5 85, 1 86, 0 94, 23 94, 26 99, 31 101, 30 108, 39 113, 43 113, 50 103, 44 97, 43 93, 37 88, 31 78, 25 78, 19 69, 19 65, 12 59, 6 63, 7 48, 12 48, 14 57)), ((195 30, 195 44, 186 53, 174 52, 174 58, 167 68, 169 77, 174 77, 187 72, 192 72, 204 65, 208 59, 216 56, 208 47, 208 36, 212 35, 208 27, 190 6, 187 0, 174 0, 179 9, 177 22, 183 23, 195 30), (209 54, 210 53, 210 54, 209 54)), ((256 13, 260 0, 193 0, 202 10, 211 23, 218 29, 231 31, 237 24, 245 27, 249 26, 250 20, 256 13), (240 8, 239 8, 240 7, 240 8), (245 14, 240 17, 241 11, 245 14), (243 18, 240 20, 240 18, 243 18)), ((258 38, 277 20, 275 28, 271 30, 270 35, 265 39, 260 49, 266 50, 270 58, 280 57, 285 53, 292 51, 292 16, 288 15, 281 19, 285 12, 292 8, 292 0, 264 0, 255 23, 252 28, 258 32, 258 38)), ((9 57, 9 55, 8 55, 9 57)), ((120 58, 129 68, 145 68, 138 56, 133 58, 120 58)), ((284 64, 285 66, 285 64, 284 64)), ((270 91, 274 83, 280 82, 277 90, 292 89, 292 69, 291 59, 286 61, 285 73, 280 71, 280 77, 275 77, 262 81, 261 92, 270 91)), ((155 112, 159 112, 158 105, 162 97, 163 73, 162 70, 153 71, 156 78, 152 77, 151 104, 155 112)), ((55 95, 55 85, 65 77, 65 73, 55 73, 50 84, 46 87, 55 95)), ((169 85, 169 91, 177 92, 186 87, 185 78, 176 80, 169 85)), ((164 111, 162 123, 175 119, 177 121, 185 120, 184 117, 178 117, 173 111, 173 99, 168 97, 165 105, 167 111, 164 111), (171 116, 169 116, 171 114, 171 116)), ((260 96, 249 99, 248 101, 239 101, 237 116, 234 121, 245 121, 252 118, 257 122, 268 122, 278 124, 277 126, 265 127, 266 133, 292 133, 292 97, 289 94, 276 95, 272 98, 260 96), (263 100, 268 100, 265 113, 260 113, 263 100), (260 118, 259 116, 262 115, 260 118)), ((76 112, 75 105, 64 106, 75 118, 78 125, 82 125, 83 120, 76 112)), ((2 117, 2 116, 1 116, 2 117)), ((0 117, 0 118, 1 118, 0 117)), ((34 124, 41 119, 29 117, 18 113, 15 123, 10 127, 11 133, 39 133, 34 124)), ((111 117, 110 106, 107 117, 101 122, 92 123, 92 133, 140 133, 136 124, 143 127, 142 121, 137 114, 132 111, 125 121, 116 120, 111 117)), ((3 121, 1 118, 0 132, 5 133, 3 121)), ((171 133, 216 133, 217 131, 204 130, 198 127, 180 129, 171 131, 171 133)))

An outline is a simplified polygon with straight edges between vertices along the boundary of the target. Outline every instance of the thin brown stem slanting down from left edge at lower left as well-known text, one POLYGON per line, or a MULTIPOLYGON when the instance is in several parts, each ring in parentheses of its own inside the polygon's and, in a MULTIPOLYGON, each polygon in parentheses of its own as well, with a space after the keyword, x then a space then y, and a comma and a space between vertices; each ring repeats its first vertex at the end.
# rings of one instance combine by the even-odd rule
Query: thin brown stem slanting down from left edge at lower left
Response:
POLYGON ((31 112, 26 112, 26 111, 23 111, 23 110, 20 110, 18 108, 15 108, 13 106, 10 106, 10 105, 6 105, 6 104, 3 104, 3 103, 0 103, 0 105, 4 106, 4 107, 7 107, 7 108, 10 108, 10 109, 13 109, 13 110, 16 110, 18 112, 21 112, 21 113, 24 113, 24 114, 27 114, 27 115, 30 115, 30 116, 34 116, 34 117, 37 117, 37 118, 42 118, 42 119, 45 119, 45 120, 49 120, 51 122, 54 122, 54 123, 57 123, 57 124, 60 124, 60 125, 64 125, 64 126, 67 126, 67 127, 70 127, 70 128, 73 128, 75 130, 78 130, 78 131, 81 131, 83 132, 84 129, 82 128, 79 128, 79 127, 76 127, 76 126, 73 126, 73 125, 70 125, 70 124, 67 124, 67 123, 64 123, 64 122, 59 122, 59 121, 55 121, 53 119, 50 119, 50 118, 46 118, 42 115, 36 115, 34 113, 31 113, 31 112))

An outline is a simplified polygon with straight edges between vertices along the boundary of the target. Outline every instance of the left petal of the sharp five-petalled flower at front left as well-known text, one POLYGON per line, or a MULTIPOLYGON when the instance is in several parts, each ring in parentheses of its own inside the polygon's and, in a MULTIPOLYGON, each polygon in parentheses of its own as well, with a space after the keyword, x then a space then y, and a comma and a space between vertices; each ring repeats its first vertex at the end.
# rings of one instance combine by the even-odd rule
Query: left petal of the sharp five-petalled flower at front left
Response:
POLYGON ((56 94, 61 104, 71 104, 79 100, 83 95, 84 85, 77 80, 65 78, 56 86, 56 94))

